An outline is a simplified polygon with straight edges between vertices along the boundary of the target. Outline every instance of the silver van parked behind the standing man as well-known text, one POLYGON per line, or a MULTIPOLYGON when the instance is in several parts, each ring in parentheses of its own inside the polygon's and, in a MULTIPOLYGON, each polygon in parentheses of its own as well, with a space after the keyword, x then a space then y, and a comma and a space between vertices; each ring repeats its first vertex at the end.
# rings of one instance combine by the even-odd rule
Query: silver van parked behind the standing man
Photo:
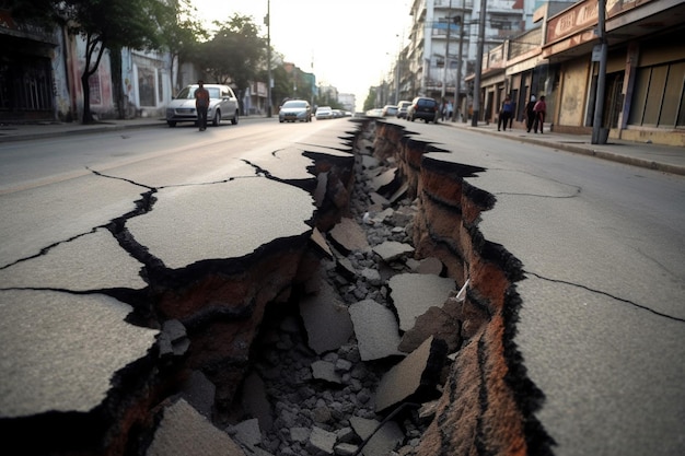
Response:
MULTIPOLYGON (((197 122, 197 110, 195 109, 195 91, 197 84, 184 87, 178 95, 166 107, 166 124, 175 127, 179 121, 197 122)), ((224 119, 230 119, 231 124, 237 124, 239 108, 237 98, 233 90, 222 84, 205 84, 209 91, 209 109, 207 109, 207 121, 214 127, 224 119)))

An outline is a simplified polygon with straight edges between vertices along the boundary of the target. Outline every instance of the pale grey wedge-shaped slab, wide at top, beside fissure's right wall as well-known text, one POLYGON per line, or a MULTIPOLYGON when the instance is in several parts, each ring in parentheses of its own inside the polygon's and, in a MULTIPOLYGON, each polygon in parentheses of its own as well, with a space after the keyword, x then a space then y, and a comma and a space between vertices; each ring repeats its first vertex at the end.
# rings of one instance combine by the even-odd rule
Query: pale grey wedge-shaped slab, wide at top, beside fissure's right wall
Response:
POLYGON ((400 273, 390 279, 388 287, 399 329, 408 331, 430 307, 442 307, 455 282, 433 274, 400 273))

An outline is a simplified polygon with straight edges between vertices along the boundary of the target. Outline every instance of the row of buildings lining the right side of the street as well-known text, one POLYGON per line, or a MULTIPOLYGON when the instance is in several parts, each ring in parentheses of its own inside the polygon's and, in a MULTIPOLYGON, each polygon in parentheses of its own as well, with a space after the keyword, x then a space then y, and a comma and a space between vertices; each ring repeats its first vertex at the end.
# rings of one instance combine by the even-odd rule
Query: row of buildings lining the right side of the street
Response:
POLYGON ((458 115, 467 120, 473 97, 479 96, 478 120, 497 121, 510 96, 513 120, 521 124, 530 97, 545 95, 548 125, 556 131, 592 132, 596 112, 611 138, 685 145, 684 0, 487 1, 485 15, 483 5, 414 1, 409 43, 390 83, 397 100, 456 97, 458 115), (601 36, 608 49, 604 62, 601 36))

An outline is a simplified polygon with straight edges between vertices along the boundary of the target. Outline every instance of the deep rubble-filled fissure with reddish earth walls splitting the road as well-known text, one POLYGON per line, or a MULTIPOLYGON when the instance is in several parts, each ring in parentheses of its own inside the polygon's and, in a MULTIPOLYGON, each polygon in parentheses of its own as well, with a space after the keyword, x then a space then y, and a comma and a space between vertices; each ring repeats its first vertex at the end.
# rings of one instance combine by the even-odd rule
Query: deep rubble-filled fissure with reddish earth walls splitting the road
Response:
POLYGON ((465 182, 485 169, 431 160, 439 149, 382 121, 359 122, 349 144, 348 156, 305 148, 315 179, 288 183, 314 196, 313 233, 240 258, 170 269, 127 227, 154 210, 155 189, 141 194, 108 229, 149 287, 101 292, 160 330, 155 350, 117 374, 96 410, 3 420, 9 444, 81 455, 550 453, 534 416, 542 393, 513 343, 522 265, 483 237, 495 197, 465 182), (45 439, 19 437, 36 428, 45 439))

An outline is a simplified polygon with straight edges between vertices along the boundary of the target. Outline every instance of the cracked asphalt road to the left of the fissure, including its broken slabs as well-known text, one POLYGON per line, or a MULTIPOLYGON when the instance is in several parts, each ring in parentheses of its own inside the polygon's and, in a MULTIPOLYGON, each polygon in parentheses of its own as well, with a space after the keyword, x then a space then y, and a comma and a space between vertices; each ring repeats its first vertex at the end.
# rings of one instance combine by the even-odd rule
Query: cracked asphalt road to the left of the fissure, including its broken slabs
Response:
MULTIPOLYGON (((301 140, 347 121, 148 129, 3 144, 0 417, 89 411, 158 331, 126 321, 146 267, 237 258, 312 227, 301 140), (57 159, 59 157, 59 160, 57 159)), ((349 149, 349 147, 348 147, 349 149)))

